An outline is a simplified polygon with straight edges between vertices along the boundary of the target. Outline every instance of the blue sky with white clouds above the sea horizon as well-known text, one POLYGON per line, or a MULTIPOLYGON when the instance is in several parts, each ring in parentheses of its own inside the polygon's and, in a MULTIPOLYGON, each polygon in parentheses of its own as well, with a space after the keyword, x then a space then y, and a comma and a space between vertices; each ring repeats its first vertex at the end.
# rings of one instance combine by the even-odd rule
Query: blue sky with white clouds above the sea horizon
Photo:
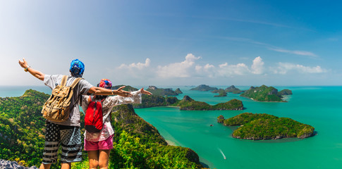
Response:
POLYGON ((136 85, 342 85, 336 1, 0 1, 0 85, 18 65, 136 85))

